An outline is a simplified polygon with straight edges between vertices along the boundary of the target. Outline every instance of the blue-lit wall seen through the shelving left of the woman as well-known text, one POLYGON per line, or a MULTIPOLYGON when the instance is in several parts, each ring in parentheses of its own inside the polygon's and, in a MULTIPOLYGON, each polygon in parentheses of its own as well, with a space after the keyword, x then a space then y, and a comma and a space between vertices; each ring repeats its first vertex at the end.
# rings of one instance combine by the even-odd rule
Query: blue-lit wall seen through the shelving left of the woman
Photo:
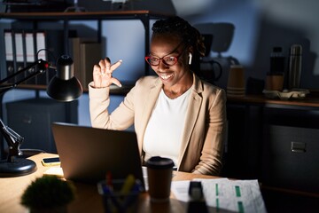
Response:
MULTIPOLYGON (((97 21, 71 21, 71 28, 76 28, 79 36, 96 36, 90 33, 90 29, 97 29, 97 21), (89 33, 88 33, 89 32, 89 33)), ((43 28, 45 23, 40 24, 43 28)), ((49 25, 47 25, 49 26, 49 25)), ((11 21, 2 23, 2 28, 10 28, 11 21)), ((108 56, 113 62, 122 59, 123 63, 113 76, 120 81, 136 81, 144 75, 144 26, 139 20, 105 20, 102 22, 102 36, 105 38, 105 51, 103 54, 108 56), (134 56, 134 57, 132 57, 134 56)), ((3 41, 1 39, 1 41, 3 41)), ((0 47, 4 46, 1 43, 0 47)), ((1 51, 2 52, 2 51, 1 51)), ((3 53, 1 53, 3 54, 3 53)), ((2 58, 4 59, 4 57, 2 58)), ((97 61, 98 62, 98 61, 97 61)), ((4 68, 4 63, 1 63, 4 68)), ((45 91, 40 92, 41 97, 47 97, 45 91)), ((30 99, 35 97, 35 91, 12 90, 4 95, 3 104, 19 99, 30 99)), ((112 96, 110 106, 111 112, 121 103, 123 97, 112 96)), ((3 119, 6 120, 5 106, 3 108, 3 119)), ((89 97, 84 93, 79 99, 79 124, 89 126, 89 97)))

